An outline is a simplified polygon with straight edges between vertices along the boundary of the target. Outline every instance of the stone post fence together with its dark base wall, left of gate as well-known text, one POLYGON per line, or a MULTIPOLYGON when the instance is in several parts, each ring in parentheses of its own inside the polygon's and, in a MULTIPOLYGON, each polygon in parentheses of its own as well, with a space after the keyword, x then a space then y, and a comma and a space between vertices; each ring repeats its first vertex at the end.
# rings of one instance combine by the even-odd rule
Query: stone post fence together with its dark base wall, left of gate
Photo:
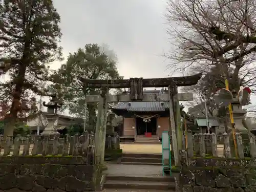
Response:
POLYGON ((0 136, 0 191, 100 190, 103 166, 95 164, 94 135, 0 136))

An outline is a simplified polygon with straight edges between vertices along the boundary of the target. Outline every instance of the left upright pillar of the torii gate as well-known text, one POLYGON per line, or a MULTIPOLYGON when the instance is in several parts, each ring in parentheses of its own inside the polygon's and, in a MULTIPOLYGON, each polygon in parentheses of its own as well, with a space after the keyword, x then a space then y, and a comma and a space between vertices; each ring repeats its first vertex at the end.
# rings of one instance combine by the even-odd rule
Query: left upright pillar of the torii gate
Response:
POLYGON ((108 116, 108 88, 101 88, 100 101, 98 105, 97 123, 95 131, 95 161, 96 164, 104 163, 106 119, 108 116))

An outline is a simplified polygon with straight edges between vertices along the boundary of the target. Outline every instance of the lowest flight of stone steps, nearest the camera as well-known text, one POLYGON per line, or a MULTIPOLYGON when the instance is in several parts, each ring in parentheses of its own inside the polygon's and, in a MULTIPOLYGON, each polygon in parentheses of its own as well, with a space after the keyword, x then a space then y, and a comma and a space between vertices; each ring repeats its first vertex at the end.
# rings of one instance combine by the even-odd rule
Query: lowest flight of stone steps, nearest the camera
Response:
POLYGON ((174 177, 161 176, 116 176, 108 175, 104 189, 114 189, 115 191, 175 191, 174 177), (128 190, 127 190, 128 191, 128 190))

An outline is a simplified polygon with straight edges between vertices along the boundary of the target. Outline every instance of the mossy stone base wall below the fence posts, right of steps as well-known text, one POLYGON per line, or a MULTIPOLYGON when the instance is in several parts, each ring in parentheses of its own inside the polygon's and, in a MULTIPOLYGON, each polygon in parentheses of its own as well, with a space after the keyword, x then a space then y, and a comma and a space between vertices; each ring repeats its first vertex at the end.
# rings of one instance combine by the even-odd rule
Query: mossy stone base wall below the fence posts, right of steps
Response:
POLYGON ((194 159, 176 177, 177 192, 254 192, 256 159, 194 159))

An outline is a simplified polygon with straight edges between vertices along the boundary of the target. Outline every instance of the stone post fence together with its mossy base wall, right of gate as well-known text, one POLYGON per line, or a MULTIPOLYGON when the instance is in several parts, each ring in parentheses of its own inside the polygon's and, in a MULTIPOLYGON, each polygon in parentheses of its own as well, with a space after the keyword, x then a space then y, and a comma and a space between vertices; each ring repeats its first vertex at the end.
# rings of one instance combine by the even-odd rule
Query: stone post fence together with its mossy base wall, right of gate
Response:
POLYGON ((186 150, 180 151, 177 192, 255 192, 256 145, 253 134, 221 135, 223 157, 218 157, 216 134, 187 132, 186 150), (234 153, 237 145, 237 155, 234 153))

